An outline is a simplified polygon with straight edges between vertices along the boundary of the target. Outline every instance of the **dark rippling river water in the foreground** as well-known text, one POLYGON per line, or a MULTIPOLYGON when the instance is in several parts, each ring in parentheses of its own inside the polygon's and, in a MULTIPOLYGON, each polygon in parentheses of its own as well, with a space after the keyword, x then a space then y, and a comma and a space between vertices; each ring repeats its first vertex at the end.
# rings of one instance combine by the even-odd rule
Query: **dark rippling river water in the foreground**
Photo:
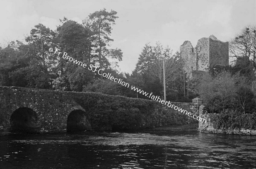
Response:
POLYGON ((0 169, 255 168, 255 136, 175 129, 0 136, 0 169))

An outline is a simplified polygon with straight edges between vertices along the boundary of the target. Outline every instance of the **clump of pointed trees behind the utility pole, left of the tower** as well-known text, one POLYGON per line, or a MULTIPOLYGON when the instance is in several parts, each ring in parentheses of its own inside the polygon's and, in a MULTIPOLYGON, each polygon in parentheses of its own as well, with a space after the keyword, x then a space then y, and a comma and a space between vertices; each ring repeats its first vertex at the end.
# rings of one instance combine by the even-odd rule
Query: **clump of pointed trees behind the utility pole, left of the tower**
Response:
MULTIPOLYGON (((128 81, 136 80, 137 83, 133 82, 133 84, 163 98, 163 62, 165 62, 166 72, 166 99, 191 102, 196 95, 191 90, 189 79, 186 76, 183 58, 178 52, 172 55, 172 50, 168 46, 163 48, 160 42, 154 46, 149 43, 144 46, 136 68, 128 77, 128 81)), ((137 97, 148 99, 143 95, 137 97)))

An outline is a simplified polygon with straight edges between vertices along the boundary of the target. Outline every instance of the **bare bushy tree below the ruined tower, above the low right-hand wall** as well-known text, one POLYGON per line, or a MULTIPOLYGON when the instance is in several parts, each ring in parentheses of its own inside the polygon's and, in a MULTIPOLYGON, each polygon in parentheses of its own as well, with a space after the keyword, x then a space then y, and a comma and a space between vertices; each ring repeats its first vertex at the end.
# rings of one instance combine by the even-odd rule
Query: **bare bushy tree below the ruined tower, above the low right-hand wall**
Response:
POLYGON ((245 76, 232 75, 229 71, 222 71, 216 76, 204 74, 198 91, 211 113, 221 113, 226 109, 243 113, 255 111, 255 95, 250 80, 245 76))

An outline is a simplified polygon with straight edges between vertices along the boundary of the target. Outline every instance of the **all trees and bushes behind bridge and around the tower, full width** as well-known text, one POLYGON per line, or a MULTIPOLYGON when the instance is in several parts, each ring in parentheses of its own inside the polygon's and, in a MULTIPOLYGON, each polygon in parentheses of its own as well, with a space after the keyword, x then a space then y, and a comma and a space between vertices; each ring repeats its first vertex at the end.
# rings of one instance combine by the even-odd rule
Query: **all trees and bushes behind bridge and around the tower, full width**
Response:
POLYGON ((145 44, 131 74, 119 73, 117 67, 122 60, 122 51, 110 48, 109 44, 113 41, 111 31, 117 18, 116 11, 103 9, 90 14, 83 24, 64 17, 56 30, 42 24, 35 25, 25 37, 26 44, 12 41, 6 48, 0 48, 0 85, 149 99, 48 51, 50 47, 56 47, 87 65, 102 67, 104 72, 148 93, 152 92, 161 99, 164 96, 164 62, 167 100, 191 102, 199 96, 211 113, 221 113, 226 109, 243 113, 256 111, 254 26, 244 28, 230 41, 230 56, 235 58, 230 68, 226 71, 210 68, 209 75, 193 81, 185 72, 184 60, 179 52, 173 55, 171 48, 163 48, 160 42, 145 44))

